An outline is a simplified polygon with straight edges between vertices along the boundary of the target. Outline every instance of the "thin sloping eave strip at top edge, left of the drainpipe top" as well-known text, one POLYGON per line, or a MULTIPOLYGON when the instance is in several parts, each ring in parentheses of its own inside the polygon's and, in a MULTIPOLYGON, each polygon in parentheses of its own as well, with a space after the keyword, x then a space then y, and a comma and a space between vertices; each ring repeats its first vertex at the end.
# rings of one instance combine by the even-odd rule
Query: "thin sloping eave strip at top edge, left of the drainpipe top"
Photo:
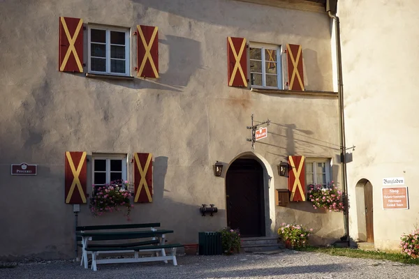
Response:
POLYGON ((326 13, 322 3, 305 0, 235 0, 247 3, 256 3, 277 8, 288 8, 293 10, 306 10, 309 12, 326 13))

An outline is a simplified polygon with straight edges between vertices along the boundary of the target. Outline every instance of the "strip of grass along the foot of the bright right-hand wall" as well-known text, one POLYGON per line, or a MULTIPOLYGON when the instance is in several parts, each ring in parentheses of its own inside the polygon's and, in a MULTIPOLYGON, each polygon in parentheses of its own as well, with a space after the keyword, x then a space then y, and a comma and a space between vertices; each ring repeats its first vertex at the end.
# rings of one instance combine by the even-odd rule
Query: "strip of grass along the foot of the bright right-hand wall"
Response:
POLYGON ((407 255, 393 252, 381 251, 365 251, 353 248, 319 248, 319 247, 304 247, 297 250, 307 252, 322 252, 328 255, 355 257, 362 259, 383 259, 392 262, 402 262, 404 264, 419 264, 419 258, 412 259, 407 255))

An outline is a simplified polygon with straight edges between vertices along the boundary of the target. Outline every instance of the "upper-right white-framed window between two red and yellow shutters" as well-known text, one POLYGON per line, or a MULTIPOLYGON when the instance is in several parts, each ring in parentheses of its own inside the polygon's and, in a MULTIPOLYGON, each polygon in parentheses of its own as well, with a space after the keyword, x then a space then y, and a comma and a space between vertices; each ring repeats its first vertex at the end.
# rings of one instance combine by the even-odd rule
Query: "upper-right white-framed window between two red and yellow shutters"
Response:
POLYGON ((249 53, 251 86, 282 89, 281 47, 251 43, 249 53))

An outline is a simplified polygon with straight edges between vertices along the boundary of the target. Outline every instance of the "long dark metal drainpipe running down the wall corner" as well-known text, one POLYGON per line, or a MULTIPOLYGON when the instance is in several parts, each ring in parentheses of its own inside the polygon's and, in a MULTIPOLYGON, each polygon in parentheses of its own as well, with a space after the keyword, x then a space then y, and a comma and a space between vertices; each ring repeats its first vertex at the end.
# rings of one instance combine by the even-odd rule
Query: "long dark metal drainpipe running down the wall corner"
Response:
POLYGON ((329 17, 335 20, 335 37, 336 37, 336 56, 337 56, 337 96, 339 99, 339 139, 341 151, 341 176, 342 176, 342 192, 344 196, 344 234, 349 246, 349 211, 348 211, 348 180, 346 176, 346 139, 345 139, 345 114, 344 114, 344 82, 342 78, 342 61, 341 61, 341 45, 340 45, 340 24, 339 17, 328 11, 329 17))

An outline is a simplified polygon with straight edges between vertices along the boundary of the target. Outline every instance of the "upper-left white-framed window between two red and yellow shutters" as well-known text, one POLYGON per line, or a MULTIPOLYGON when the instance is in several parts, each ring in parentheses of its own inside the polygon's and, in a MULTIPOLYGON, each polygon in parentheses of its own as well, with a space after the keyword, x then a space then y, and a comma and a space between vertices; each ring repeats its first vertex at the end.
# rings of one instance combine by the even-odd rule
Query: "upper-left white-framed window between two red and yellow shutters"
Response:
POLYGON ((89 24, 88 33, 89 73, 131 75, 130 29, 89 24))

